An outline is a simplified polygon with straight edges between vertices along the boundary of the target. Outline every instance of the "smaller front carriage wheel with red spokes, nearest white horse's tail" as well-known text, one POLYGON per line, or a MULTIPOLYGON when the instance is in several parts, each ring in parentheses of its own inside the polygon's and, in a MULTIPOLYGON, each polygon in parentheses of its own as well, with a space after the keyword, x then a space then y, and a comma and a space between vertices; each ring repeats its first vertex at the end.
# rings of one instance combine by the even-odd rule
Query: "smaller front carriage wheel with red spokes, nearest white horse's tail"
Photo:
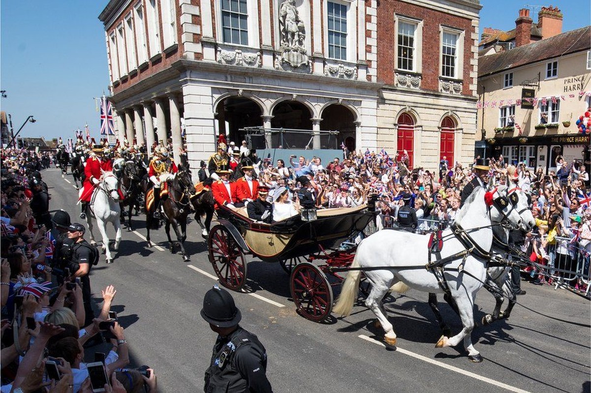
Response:
POLYGON ((332 288, 319 267, 309 262, 297 264, 291 273, 291 297, 306 319, 322 322, 332 310, 332 288))

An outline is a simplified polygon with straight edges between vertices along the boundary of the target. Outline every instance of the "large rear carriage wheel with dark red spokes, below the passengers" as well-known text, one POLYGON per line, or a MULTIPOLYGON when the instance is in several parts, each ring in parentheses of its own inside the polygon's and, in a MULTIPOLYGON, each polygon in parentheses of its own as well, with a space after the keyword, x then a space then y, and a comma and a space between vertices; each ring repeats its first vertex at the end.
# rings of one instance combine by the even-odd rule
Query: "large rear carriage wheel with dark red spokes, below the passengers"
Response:
POLYGON ((231 290, 241 290, 246 282, 246 263, 238 243, 223 225, 209 232, 209 261, 220 283, 231 290))

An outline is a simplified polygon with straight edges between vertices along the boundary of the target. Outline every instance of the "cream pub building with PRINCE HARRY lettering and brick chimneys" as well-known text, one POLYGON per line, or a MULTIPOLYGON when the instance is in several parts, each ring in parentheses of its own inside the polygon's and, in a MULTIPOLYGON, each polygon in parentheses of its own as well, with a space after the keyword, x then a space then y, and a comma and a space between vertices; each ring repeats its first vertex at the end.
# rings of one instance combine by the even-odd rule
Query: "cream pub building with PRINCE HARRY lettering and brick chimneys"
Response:
POLYGON ((559 9, 543 7, 537 24, 521 9, 515 30, 485 28, 476 155, 502 154, 506 163, 541 166, 546 173, 556 170, 562 156, 589 169, 589 131, 580 132, 576 122, 591 108, 591 27, 562 33, 561 24, 559 9))

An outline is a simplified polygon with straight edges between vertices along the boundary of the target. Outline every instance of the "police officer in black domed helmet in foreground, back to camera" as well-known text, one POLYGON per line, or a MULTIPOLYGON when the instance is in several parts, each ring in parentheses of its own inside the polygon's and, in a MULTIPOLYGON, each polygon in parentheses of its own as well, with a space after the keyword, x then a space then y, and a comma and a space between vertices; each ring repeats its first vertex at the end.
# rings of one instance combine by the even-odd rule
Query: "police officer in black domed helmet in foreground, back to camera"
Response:
POLYGON ((207 291, 201 316, 217 333, 205 392, 272 392, 267 379, 267 352, 258 338, 238 323, 242 315, 228 291, 217 285, 207 291))

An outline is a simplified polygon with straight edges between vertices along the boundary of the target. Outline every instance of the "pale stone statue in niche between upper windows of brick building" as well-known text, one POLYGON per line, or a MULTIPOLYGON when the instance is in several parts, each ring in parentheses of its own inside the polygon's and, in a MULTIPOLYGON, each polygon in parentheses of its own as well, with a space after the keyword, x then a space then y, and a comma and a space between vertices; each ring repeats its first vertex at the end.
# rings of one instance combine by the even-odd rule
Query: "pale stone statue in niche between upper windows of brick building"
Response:
POLYGON ((281 57, 292 67, 308 64, 308 56, 304 41, 306 27, 300 19, 296 7, 296 0, 285 0, 279 8, 281 57))

